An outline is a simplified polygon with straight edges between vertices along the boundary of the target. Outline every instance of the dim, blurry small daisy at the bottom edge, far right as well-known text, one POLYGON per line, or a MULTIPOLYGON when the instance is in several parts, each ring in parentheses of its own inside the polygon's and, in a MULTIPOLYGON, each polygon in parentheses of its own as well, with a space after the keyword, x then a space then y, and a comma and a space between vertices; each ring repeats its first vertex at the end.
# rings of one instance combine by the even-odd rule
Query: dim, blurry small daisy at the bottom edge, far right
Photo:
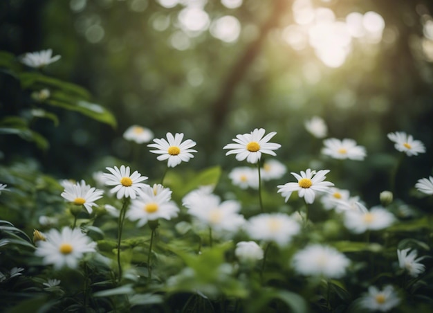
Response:
POLYGON ((358 302, 364 309, 386 312, 396 307, 400 303, 400 298, 391 285, 385 286, 383 290, 370 286, 368 293, 362 296, 358 302))

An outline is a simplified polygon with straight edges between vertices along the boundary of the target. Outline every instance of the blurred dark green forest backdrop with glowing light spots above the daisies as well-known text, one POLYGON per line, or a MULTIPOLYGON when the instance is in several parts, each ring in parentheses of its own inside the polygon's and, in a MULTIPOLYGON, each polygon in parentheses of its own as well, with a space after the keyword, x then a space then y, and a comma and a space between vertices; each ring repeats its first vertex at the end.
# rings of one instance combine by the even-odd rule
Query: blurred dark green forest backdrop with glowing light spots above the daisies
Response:
MULTIPOLYGON (((47 75, 89 89, 118 122, 58 111, 57 127, 35 125, 47 152, 10 136, 3 146, 26 145, 16 151, 80 179, 107 156, 131 160, 122 134, 137 124, 196 141, 188 167, 230 169, 239 163, 223 145, 264 127, 282 144, 277 159, 299 172, 334 165, 304 128, 317 115, 329 137, 367 147, 365 162, 344 163, 341 187, 378 197, 398 157, 387 138, 396 131, 427 147, 399 173, 413 187, 433 166, 432 15, 430 0, 2 0, 0 50, 52 48, 62 59, 47 75)), ((6 96, 0 105, 14 110, 6 96)), ((142 160, 147 176, 160 173, 145 145, 142 160)))

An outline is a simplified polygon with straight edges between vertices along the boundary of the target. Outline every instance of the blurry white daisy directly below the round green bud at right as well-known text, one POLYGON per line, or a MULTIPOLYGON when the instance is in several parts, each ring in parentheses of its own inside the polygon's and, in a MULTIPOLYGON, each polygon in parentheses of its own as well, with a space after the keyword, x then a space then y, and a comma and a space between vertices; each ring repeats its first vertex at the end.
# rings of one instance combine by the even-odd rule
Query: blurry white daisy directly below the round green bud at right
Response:
POLYGON ((394 215, 381 206, 375 206, 370 211, 359 202, 357 206, 358 211, 346 211, 344 214, 344 226, 352 233, 385 229, 396 220, 394 215))

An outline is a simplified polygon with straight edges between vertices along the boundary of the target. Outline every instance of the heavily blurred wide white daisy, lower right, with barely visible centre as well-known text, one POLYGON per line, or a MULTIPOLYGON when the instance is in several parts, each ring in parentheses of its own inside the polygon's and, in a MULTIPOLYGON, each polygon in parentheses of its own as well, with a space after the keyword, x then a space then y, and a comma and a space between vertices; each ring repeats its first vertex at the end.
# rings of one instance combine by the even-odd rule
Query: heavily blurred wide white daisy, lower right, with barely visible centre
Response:
POLYGON ((346 273, 350 260, 332 247, 311 244, 295 253, 292 265, 298 274, 341 278, 346 273))

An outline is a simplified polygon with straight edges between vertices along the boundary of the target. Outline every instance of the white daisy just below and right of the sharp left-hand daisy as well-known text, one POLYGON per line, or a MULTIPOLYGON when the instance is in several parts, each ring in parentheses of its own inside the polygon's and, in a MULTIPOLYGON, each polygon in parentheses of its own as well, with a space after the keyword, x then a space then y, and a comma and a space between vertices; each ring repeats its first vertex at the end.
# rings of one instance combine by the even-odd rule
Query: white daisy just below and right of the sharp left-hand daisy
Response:
POLYGON ((138 191, 138 197, 133 199, 127 217, 131 221, 138 221, 137 226, 143 226, 148 221, 163 218, 171 220, 178 215, 179 208, 172 199, 172 190, 164 188, 154 193, 154 188, 145 186, 138 191))

